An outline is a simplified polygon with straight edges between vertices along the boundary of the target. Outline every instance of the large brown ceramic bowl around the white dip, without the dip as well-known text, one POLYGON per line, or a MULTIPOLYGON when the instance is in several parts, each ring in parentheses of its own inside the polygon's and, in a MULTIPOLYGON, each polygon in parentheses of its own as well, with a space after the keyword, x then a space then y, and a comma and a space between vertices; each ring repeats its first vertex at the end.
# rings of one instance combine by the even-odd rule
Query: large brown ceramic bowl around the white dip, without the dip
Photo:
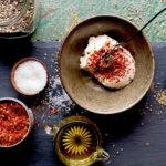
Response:
POLYGON ((93 113, 114 114, 131 108, 143 98, 151 86, 155 65, 152 48, 143 33, 127 44, 136 62, 136 74, 124 89, 105 89, 80 69, 80 56, 90 37, 107 34, 121 42, 137 30, 125 19, 98 15, 79 23, 66 35, 59 52, 60 77, 66 93, 77 105, 93 113))

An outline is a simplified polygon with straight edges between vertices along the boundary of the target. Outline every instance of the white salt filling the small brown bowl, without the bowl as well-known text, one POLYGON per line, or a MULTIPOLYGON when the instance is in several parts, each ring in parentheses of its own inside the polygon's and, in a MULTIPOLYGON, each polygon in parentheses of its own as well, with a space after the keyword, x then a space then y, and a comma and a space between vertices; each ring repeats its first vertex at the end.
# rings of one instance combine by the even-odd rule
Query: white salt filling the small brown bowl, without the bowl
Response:
POLYGON ((41 92, 48 81, 44 66, 33 60, 21 63, 14 72, 17 87, 24 94, 34 95, 41 92))

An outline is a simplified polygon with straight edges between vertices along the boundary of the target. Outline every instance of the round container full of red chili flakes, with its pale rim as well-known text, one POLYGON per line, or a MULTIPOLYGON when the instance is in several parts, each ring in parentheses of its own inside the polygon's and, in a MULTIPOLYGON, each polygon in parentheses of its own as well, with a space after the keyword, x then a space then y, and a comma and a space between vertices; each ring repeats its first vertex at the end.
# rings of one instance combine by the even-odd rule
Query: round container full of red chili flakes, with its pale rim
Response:
POLYGON ((14 147, 22 143, 33 126, 33 114, 21 101, 0 98, 0 147, 14 147))

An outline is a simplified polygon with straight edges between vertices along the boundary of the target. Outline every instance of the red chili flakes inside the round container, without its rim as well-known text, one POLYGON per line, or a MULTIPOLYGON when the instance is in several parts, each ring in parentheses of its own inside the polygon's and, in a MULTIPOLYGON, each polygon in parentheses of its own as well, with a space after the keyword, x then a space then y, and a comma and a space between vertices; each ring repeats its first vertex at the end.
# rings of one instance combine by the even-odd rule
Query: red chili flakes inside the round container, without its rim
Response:
POLYGON ((29 129, 29 117, 22 105, 15 102, 0 103, 0 145, 19 143, 29 129))

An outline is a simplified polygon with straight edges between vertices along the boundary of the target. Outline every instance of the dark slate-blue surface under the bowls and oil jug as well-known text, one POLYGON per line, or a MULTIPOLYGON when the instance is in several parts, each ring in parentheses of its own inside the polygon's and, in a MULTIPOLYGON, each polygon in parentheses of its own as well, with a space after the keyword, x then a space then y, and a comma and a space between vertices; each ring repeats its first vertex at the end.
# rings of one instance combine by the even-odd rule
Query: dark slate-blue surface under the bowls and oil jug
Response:
POLYGON ((73 114, 83 114, 94 121, 103 136, 103 147, 111 154, 106 163, 96 166, 165 166, 166 165, 166 106, 156 101, 156 94, 166 89, 166 43, 153 43, 156 70, 152 87, 145 97, 133 108, 116 115, 97 115, 82 111, 68 100, 58 79, 56 52, 59 42, 9 43, 0 46, 0 97, 12 96, 23 101, 35 116, 32 133, 23 144, 15 148, 0 148, 0 166, 61 166, 55 156, 52 136, 42 129, 42 124, 56 124, 73 114), (10 84, 12 65, 23 56, 42 60, 50 73, 50 84, 37 97, 18 94, 10 84), (50 96, 48 95, 50 94, 50 96), (45 97, 46 96, 46 97, 45 97), (65 100, 54 103, 48 98, 65 100), (42 101, 42 102, 41 102, 42 101), (58 114, 48 113, 50 106, 58 114))

